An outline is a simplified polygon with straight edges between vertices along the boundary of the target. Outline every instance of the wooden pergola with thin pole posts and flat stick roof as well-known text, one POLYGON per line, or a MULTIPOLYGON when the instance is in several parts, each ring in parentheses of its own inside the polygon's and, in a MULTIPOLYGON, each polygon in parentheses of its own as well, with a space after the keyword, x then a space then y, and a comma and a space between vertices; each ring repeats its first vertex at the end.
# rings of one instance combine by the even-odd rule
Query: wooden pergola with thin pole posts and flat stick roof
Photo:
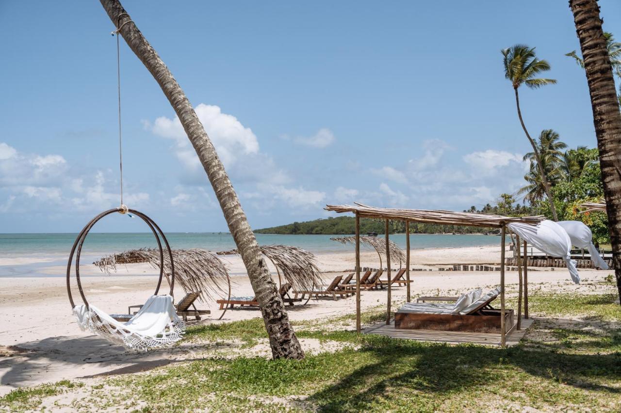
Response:
MULTIPOLYGON (((459 226, 476 226, 485 228, 501 229, 501 345, 506 345, 505 332, 505 238, 507 233, 507 224, 524 223, 537 225, 545 220, 544 216, 502 216, 486 213, 470 213, 455 212, 445 210, 407 210, 397 208, 375 208, 368 207, 361 203, 355 205, 326 205, 325 210, 335 211, 337 213, 350 212, 356 216, 356 331, 360 332, 360 218, 376 218, 386 222, 386 267, 390 280, 391 259, 389 248, 389 221, 398 220, 406 223, 406 298, 410 301, 410 222, 459 225, 459 226)), ((517 237, 517 246, 520 246, 520 239, 517 237)), ((526 254, 526 242, 524 242, 524 254, 526 254)), ((520 254, 517 254, 517 267, 519 276, 519 298, 518 298, 518 317, 517 329, 521 328, 520 319, 522 316, 522 294, 524 294, 524 316, 528 318, 528 275, 527 267, 524 265, 524 288, 522 288, 522 260, 520 254)), ((388 283, 388 303, 386 311, 386 324, 391 321, 391 283, 388 283)))

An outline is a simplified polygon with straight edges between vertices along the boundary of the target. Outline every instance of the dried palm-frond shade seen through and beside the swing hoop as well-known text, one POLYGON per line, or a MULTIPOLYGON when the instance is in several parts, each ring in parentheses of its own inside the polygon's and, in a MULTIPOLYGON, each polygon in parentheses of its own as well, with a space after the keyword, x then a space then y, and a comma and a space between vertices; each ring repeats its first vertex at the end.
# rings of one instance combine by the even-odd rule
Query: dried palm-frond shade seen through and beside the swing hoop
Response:
MULTIPOLYGON (((226 294, 229 290, 229 273, 222 260, 204 249, 173 249, 175 261, 175 283, 184 291, 201 291, 201 300, 206 301, 212 293, 226 294)), ((154 248, 132 249, 119 254, 107 255, 93 262, 103 272, 116 272, 119 264, 147 262, 154 269, 160 269, 160 250, 154 248)), ((164 274, 170 277, 170 259, 164 254, 164 274)), ((169 280, 170 283, 170 280, 169 280)))

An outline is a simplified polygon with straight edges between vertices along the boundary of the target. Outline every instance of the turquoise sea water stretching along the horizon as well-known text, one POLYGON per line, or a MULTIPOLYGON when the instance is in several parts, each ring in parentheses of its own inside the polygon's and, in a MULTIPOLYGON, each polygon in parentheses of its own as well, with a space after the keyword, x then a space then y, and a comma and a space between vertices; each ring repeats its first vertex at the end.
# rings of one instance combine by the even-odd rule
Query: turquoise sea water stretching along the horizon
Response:
MULTIPOLYGON (((44 276, 39 270, 50 265, 66 265, 66 259, 77 234, 0 234, 0 277, 44 276), (45 259, 45 262, 29 260, 45 259), (17 262, 16 262, 17 261, 17 262), (2 265, 8 262, 7 265, 2 265)), ((380 235, 381 236, 381 235, 380 235)), ((261 245, 285 244, 297 246, 317 254, 329 252, 353 253, 353 245, 330 240, 333 235, 276 235, 256 234, 261 245)), ((235 247, 229 233, 167 233, 172 248, 202 248, 225 251, 235 247)), ((406 246, 404 234, 391 235, 391 240, 406 246)), ((412 234, 410 246, 420 248, 474 247, 495 245, 497 236, 412 234)), ((151 233, 91 233, 83 248, 83 262, 102 255, 140 247, 156 247, 151 233)), ((50 275, 45 275, 50 276, 50 275)))

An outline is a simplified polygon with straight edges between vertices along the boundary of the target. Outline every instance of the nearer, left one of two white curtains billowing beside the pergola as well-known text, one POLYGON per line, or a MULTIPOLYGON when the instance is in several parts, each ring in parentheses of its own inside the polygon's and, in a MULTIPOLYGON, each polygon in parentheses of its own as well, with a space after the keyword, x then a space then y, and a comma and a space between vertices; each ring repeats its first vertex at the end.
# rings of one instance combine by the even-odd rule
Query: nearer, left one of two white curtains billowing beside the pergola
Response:
POLYGON ((570 255, 571 239, 562 226, 550 220, 542 221, 537 226, 523 223, 511 223, 507 226, 520 238, 544 254, 564 259, 571 279, 576 284, 580 283, 576 261, 571 259, 570 255))

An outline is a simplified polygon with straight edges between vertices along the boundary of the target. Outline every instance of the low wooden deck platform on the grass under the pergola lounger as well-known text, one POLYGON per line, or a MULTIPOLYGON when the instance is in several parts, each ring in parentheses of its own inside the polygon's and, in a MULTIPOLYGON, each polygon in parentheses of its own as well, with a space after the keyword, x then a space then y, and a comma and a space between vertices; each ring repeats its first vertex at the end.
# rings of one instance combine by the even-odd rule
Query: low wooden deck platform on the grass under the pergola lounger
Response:
MULTIPOLYGON (((516 330, 515 327, 507 334, 507 346, 516 345, 522 340, 526 329, 533 324, 533 319, 522 319, 522 329, 516 330)), ((394 328, 394 321, 387 326, 385 321, 366 327, 363 334, 388 335, 394 339, 408 339, 417 341, 431 341, 450 344, 481 344, 481 345, 501 345, 500 333, 480 333, 480 332, 461 332, 461 331, 435 331, 435 330, 402 330, 394 328)))

